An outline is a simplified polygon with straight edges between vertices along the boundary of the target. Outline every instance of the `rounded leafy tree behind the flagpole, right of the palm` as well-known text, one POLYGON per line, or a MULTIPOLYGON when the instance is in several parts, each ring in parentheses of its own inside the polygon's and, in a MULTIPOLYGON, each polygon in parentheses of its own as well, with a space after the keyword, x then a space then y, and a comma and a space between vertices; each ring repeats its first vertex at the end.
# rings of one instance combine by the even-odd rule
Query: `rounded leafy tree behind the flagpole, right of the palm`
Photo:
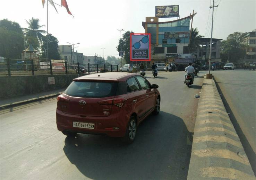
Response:
MULTIPOLYGON (((52 34, 48 34, 48 47, 49 47, 49 59, 60 60, 60 53, 58 52, 58 39, 52 34)), ((42 58, 45 58, 45 51, 47 51, 47 35, 42 38, 42 58)))

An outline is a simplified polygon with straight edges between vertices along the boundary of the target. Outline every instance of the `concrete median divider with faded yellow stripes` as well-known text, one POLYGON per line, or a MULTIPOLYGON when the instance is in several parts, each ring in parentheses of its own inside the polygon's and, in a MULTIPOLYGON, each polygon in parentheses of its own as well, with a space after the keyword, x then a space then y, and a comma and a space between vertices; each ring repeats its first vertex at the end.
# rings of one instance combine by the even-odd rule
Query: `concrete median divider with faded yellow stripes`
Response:
POLYGON ((256 179, 212 79, 203 80, 187 179, 256 179))

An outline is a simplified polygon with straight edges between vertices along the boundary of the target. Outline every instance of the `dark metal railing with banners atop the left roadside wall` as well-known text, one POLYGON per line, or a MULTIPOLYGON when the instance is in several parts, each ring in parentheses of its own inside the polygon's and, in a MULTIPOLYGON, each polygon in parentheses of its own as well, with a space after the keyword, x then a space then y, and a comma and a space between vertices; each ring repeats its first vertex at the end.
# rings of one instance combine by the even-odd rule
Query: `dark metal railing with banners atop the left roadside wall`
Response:
POLYGON ((71 63, 64 60, 0 59, 0 76, 101 72, 118 72, 118 65, 71 63))

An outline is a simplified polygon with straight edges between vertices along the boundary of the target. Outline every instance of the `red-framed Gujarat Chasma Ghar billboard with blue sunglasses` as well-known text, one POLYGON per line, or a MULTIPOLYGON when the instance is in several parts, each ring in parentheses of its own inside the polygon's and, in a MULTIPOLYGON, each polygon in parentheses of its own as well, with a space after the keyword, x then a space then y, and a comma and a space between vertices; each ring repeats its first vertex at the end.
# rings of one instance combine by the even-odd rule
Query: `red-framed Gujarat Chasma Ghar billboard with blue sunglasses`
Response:
POLYGON ((131 33, 130 34, 130 60, 150 61, 150 34, 131 33))

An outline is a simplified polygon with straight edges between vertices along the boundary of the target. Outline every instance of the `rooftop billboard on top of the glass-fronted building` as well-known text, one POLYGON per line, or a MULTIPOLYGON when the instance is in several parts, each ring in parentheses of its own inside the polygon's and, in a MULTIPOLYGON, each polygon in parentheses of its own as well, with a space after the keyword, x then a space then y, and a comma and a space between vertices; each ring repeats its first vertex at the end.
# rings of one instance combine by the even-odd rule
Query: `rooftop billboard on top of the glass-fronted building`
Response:
POLYGON ((159 18, 179 17, 179 5, 156 6, 155 16, 159 18))

